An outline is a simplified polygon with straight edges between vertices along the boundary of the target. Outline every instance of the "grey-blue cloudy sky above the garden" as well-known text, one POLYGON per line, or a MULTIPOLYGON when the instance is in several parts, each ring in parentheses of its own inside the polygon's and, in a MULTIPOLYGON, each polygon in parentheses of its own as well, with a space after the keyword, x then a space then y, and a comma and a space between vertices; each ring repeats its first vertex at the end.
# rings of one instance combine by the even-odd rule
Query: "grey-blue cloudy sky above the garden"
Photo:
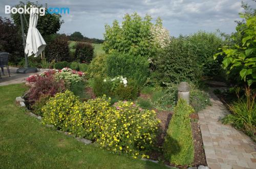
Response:
MULTIPOLYGON (((5 14, 5 5, 13 6, 19 1, 1 0, 0 16, 9 17, 5 14)), ((256 8, 255 2, 244 2, 256 8)), ((241 0, 38 0, 38 3, 70 8, 70 14, 62 15, 65 23, 59 33, 79 31, 84 36, 95 38, 103 38, 104 25, 111 24, 114 19, 121 21, 125 13, 137 12, 141 16, 148 13, 153 20, 160 16, 170 35, 179 36, 198 30, 234 32, 234 20, 240 19, 238 13, 243 12, 241 0)))

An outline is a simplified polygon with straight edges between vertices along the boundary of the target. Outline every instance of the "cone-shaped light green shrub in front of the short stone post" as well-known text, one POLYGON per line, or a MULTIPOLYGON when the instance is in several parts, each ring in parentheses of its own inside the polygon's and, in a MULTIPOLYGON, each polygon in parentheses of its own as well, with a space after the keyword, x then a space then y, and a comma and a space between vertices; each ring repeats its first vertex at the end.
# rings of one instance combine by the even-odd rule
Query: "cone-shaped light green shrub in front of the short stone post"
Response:
POLYGON ((165 158, 175 165, 187 165, 194 161, 194 144, 189 114, 192 107, 180 99, 174 109, 163 145, 165 158))

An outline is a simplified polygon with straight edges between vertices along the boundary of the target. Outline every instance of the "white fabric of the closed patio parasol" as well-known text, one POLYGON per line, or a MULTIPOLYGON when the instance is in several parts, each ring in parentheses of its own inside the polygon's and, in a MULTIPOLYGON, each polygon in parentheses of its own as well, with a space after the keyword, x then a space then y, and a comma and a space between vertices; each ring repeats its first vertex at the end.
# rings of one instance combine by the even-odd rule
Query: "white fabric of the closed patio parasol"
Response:
POLYGON ((34 54, 34 57, 37 57, 46 47, 46 42, 44 38, 42 38, 40 32, 36 29, 37 20, 38 8, 32 7, 30 9, 29 29, 25 47, 25 54, 27 54, 27 56, 31 56, 34 54))

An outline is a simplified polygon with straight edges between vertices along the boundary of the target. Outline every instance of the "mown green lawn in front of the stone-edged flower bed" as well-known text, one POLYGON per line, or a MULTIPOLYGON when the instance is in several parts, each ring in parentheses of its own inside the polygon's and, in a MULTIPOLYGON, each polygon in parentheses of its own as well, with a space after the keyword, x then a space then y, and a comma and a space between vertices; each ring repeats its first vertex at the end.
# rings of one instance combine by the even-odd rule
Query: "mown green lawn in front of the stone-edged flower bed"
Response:
POLYGON ((165 168, 47 128, 15 104, 26 90, 24 84, 0 86, 0 168, 165 168))

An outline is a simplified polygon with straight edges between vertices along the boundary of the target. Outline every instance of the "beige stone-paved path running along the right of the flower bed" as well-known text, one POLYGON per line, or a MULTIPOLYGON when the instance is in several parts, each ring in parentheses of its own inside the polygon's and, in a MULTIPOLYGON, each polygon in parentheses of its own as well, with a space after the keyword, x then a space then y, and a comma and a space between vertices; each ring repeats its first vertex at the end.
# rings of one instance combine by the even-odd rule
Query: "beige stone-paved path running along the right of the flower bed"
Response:
POLYGON ((210 91, 212 106, 198 112, 208 166, 215 168, 256 168, 256 144, 244 133, 218 122, 228 110, 210 91))

